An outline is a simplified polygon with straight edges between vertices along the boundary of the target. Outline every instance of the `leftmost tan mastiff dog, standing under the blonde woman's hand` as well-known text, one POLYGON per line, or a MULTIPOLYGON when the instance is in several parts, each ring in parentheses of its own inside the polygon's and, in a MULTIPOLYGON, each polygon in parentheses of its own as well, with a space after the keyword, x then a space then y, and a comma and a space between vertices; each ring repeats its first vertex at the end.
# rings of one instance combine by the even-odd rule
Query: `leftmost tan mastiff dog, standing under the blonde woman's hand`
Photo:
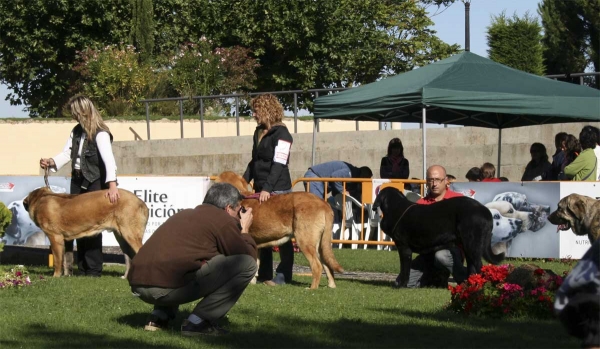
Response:
POLYGON ((73 256, 65 254, 65 240, 73 240, 111 231, 125 254, 127 269, 129 259, 142 247, 142 238, 148 221, 148 207, 133 193, 119 189, 121 198, 111 204, 104 197, 106 190, 71 195, 56 194, 49 187, 42 187, 29 193, 23 206, 33 222, 40 227, 50 240, 54 256, 54 277, 72 272, 73 256))

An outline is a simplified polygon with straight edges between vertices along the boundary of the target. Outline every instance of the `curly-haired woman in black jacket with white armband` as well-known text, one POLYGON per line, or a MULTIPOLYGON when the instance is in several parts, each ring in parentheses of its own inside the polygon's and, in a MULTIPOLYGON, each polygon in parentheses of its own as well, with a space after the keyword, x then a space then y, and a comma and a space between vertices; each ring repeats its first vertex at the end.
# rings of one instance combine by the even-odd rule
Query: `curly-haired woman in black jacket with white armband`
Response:
MULTIPOLYGON (((271 194, 285 194, 292 191, 292 178, 288 168, 292 135, 283 120, 283 106, 274 95, 265 94, 250 102, 254 119, 258 123, 254 131, 252 160, 244 173, 244 179, 254 180, 254 191, 260 193, 259 200, 269 200, 271 194)), ((292 281, 294 266, 294 246, 288 241, 279 246, 281 262, 277 275, 273 278, 273 249, 259 250, 260 264, 257 281, 276 286, 292 281)))

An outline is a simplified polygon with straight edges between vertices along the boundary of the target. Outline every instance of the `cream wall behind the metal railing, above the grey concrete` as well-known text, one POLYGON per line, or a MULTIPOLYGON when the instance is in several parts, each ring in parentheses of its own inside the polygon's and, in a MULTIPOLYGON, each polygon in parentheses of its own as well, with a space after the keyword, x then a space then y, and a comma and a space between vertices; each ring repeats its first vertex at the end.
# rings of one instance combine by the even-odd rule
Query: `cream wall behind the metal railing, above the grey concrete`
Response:
MULTIPOLYGON (((111 121, 106 124, 114 137, 115 146, 121 141, 147 140, 146 121, 111 121)), ((294 130, 294 120, 286 119, 290 131, 294 130)), ((0 119, 0 140, 4 145, 0 149, 0 174, 2 175, 34 175, 39 173, 39 159, 52 157, 64 147, 69 133, 75 126, 72 120, 52 119, 26 119, 2 120, 0 119)), ((252 135, 256 128, 253 120, 240 122, 240 134, 252 135)), ((360 122, 360 130, 377 130, 376 122, 360 122)), ((198 120, 184 120, 183 135, 185 139, 200 138, 200 122, 198 120)), ((298 120, 299 133, 312 133, 312 121, 298 120)), ((353 131, 356 130, 354 121, 328 120, 322 121, 321 132, 353 131)), ((204 135, 207 138, 232 137, 237 134, 235 119, 219 121, 205 121, 204 135)), ((181 139, 181 124, 179 121, 163 119, 152 121, 150 124, 150 139, 181 139)), ((209 141, 209 144, 213 141, 209 141)), ((223 142, 219 140, 219 142, 223 142)), ((228 143, 228 141, 225 141, 228 143)), ((142 144, 142 143, 140 143, 142 144)), ((119 160, 117 158, 117 160, 119 160)), ((121 167, 119 167, 121 170, 121 167)), ((124 172, 119 171, 123 174, 124 172)))

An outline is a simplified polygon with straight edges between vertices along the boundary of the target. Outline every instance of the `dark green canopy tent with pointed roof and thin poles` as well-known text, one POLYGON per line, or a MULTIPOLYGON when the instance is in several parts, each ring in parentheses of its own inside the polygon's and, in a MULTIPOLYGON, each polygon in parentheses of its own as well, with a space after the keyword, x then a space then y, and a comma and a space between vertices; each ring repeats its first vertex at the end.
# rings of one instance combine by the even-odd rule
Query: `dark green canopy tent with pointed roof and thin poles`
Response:
MULTIPOLYGON (((503 128, 600 121, 600 91, 509 68, 471 52, 315 100, 318 119, 503 128)), ((313 132, 313 162, 316 130, 313 132)), ((498 151, 500 169, 500 149, 498 151)))

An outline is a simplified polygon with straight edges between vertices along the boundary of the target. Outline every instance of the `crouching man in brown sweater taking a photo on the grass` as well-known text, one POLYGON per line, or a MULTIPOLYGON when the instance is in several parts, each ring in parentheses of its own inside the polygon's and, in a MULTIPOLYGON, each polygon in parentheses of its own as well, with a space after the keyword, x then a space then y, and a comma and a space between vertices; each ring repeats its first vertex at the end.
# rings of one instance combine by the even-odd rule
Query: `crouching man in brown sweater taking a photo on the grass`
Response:
POLYGON ((222 335, 217 321, 256 274, 256 243, 248 234, 252 210, 227 183, 213 184, 202 205, 171 216, 132 261, 132 292, 154 305, 145 330, 168 326, 180 304, 202 298, 183 321, 181 334, 222 335), (238 218, 240 217, 240 218, 238 218))

